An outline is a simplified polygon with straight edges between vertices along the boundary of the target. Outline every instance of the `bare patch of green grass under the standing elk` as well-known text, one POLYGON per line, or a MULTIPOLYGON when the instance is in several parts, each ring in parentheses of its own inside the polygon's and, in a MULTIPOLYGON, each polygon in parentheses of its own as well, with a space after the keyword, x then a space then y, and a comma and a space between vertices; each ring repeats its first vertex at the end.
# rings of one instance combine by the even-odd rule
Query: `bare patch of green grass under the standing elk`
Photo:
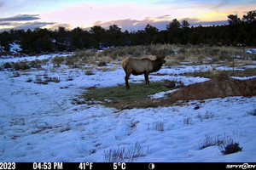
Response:
POLYGON ((109 88, 89 88, 82 95, 85 100, 101 101, 102 105, 114 107, 119 110, 132 108, 157 107, 152 105, 148 95, 170 90, 163 86, 163 82, 151 82, 149 88, 144 83, 131 83, 131 89, 125 89, 125 85, 109 88))

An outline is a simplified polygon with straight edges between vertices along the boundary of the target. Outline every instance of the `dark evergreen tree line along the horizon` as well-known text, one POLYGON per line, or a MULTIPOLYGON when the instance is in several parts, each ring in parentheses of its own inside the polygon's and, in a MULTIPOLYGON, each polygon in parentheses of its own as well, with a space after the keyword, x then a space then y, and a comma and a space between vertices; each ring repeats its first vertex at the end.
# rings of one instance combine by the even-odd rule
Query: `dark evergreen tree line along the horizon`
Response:
POLYGON ((74 51, 82 48, 112 48, 117 46, 148 45, 151 43, 209 44, 209 45, 256 45, 256 11, 250 11, 240 19, 237 14, 228 15, 228 25, 189 26, 188 20, 172 20, 166 30, 147 25, 144 30, 121 31, 119 26, 90 27, 89 31, 79 27, 67 30, 59 27, 55 31, 36 28, 34 30, 10 30, 0 33, 0 45, 9 51, 10 42, 20 43, 22 53, 74 51))

